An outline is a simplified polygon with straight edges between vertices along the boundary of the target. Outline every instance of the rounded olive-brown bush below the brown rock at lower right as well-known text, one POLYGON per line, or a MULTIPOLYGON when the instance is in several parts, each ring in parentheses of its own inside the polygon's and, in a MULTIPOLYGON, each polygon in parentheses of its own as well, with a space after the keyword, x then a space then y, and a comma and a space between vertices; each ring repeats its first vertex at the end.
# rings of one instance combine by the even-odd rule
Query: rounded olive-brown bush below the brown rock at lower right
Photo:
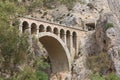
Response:
POLYGON ((87 57, 86 66, 100 75, 107 74, 109 69, 112 69, 112 61, 107 53, 101 52, 97 55, 87 57))

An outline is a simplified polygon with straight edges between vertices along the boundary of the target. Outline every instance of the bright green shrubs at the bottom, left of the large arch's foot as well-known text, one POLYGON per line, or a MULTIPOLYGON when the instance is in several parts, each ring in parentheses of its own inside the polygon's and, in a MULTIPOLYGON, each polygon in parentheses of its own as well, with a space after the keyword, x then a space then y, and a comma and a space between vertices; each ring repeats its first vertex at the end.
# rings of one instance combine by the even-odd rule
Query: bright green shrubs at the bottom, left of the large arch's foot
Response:
POLYGON ((23 70, 13 76, 11 80, 48 80, 48 75, 44 71, 36 71, 32 67, 25 65, 23 70))

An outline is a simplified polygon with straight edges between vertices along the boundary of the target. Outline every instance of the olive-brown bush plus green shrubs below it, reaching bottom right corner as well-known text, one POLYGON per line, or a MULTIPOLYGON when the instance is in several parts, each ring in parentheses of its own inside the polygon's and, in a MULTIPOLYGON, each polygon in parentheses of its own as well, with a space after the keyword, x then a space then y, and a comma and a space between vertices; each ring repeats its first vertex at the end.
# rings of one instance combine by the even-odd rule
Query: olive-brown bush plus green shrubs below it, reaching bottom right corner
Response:
POLYGON ((92 71, 91 80, 120 80, 115 74, 113 63, 106 52, 87 57, 86 66, 92 71))

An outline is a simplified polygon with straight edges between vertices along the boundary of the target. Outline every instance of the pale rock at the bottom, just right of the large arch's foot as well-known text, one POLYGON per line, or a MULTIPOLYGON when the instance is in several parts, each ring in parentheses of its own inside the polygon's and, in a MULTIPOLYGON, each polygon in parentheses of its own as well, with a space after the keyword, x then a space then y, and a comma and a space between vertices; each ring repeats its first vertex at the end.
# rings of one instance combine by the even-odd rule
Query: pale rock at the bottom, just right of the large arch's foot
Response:
POLYGON ((86 56, 79 55, 73 63, 72 80, 89 80, 89 70, 85 67, 86 56))

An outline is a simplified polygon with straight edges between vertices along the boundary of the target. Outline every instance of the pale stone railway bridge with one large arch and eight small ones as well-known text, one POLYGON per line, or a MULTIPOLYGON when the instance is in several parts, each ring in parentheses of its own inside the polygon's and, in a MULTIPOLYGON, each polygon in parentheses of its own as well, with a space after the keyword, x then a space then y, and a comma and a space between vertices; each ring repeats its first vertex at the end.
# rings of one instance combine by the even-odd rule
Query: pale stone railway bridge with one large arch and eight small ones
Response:
POLYGON ((34 18, 19 19, 20 33, 28 31, 46 48, 52 72, 70 71, 74 56, 78 54, 80 38, 84 31, 34 18))

